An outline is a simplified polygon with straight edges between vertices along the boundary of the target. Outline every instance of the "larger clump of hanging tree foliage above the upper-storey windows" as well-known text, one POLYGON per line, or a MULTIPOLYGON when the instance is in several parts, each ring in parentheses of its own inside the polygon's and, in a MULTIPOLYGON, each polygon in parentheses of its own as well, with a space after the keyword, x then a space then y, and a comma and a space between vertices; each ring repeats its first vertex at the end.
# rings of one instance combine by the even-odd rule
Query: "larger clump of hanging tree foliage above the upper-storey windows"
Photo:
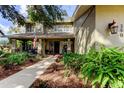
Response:
POLYGON ((33 5, 28 6, 29 19, 32 22, 43 23, 47 27, 51 27, 56 20, 62 20, 62 16, 67 15, 61 6, 55 5, 33 5))

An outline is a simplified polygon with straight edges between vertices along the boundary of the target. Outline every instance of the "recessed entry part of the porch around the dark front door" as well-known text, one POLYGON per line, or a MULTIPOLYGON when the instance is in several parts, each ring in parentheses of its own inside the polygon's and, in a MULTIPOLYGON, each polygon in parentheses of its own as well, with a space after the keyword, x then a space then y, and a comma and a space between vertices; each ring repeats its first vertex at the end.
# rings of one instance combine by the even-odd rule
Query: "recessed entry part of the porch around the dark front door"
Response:
POLYGON ((45 54, 74 52, 74 39, 46 39, 45 54))

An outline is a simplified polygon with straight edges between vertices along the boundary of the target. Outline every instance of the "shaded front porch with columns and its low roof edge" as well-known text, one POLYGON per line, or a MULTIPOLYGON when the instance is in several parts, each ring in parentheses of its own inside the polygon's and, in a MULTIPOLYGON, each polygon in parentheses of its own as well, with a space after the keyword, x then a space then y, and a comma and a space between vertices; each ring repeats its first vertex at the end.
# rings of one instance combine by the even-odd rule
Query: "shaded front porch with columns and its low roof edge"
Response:
POLYGON ((33 35, 10 36, 12 52, 26 51, 40 56, 74 52, 74 36, 70 34, 37 35, 35 48, 33 47, 33 39, 33 35))

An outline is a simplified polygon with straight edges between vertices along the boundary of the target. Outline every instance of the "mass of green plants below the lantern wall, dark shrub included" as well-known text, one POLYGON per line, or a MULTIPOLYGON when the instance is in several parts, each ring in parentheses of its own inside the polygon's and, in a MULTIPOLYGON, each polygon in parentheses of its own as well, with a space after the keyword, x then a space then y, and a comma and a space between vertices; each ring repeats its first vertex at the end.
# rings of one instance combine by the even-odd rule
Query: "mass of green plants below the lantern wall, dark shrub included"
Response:
POLYGON ((92 87, 124 87, 124 52, 118 48, 91 49, 83 55, 65 54, 64 64, 81 73, 82 79, 90 81, 92 87))

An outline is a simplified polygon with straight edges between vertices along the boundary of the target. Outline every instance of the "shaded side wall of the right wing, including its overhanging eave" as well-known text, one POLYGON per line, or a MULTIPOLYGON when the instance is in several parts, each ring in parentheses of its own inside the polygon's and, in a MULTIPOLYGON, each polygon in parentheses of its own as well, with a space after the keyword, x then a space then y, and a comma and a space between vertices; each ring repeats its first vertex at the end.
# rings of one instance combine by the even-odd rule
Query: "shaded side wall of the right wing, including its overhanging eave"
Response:
POLYGON ((73 17, 75 52, 85 53, 92 46, 92 33, 95 30, 95 7, 77 6, 73 17))

